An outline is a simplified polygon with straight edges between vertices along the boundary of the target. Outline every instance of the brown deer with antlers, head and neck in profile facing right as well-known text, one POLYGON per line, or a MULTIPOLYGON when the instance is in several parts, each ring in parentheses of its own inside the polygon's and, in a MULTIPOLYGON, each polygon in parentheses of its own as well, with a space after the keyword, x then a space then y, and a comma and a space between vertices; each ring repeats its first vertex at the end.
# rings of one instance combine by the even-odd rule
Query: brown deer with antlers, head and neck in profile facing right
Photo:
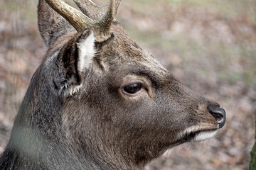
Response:
POLYGON ((214 137, 225 110, 134 42, 101 7, 38 1, 47 52, 14 120, 0 169, 143 169, 166 149, 214 137))

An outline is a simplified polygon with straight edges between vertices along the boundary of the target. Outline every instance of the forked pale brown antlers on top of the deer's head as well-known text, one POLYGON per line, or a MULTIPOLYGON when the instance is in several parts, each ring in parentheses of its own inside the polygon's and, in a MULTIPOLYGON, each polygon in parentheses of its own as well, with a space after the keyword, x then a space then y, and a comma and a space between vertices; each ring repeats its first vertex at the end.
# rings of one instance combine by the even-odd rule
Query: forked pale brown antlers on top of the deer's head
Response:
MULTIPOLYGON (((46 0, 49 6, 61 16, 63 16, 63 18, 65 18, 76 30, 83 31, 86 28, 90 28, 95 32, 95 38, 98 42, 102 42, 110 38, 110 27, 112 21, 114 20, 114 16, 117 13, 117 8, 121 0, 110 0, 110 4, 107 8, 107 12, 105 13, 105 15, 102 15, 105 7, 97 6, 93 4, 92 1, 85 0, 83 4, 80 3, 80 0, 74 1, 83 13, 73 8, 72 6, 65 4, 63 0, 46 0), (90 19, 90 11, 88 11, 87 8, 85 8, 83 5, 89 6, 90 11, 100 9, 97 16, 102 16, 102 18, 97 21, 93 21, 92 19, 90 19)), ((95 11, 93 12, 91 17, 96 17, 95 11)))

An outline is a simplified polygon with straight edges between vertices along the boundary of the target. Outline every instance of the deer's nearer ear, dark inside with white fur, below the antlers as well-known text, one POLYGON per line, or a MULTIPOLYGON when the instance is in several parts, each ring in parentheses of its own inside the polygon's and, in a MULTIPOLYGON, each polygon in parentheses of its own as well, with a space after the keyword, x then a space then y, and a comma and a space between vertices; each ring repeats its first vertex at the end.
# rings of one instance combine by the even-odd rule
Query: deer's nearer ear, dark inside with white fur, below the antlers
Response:
POLYGON ((83 73, 90 67, 95 56, 95 36, 92 30, 77 33, 60 51, 60 69, 64 83, 60 88, 65 96, 71 96, 82 88, 83 73))

